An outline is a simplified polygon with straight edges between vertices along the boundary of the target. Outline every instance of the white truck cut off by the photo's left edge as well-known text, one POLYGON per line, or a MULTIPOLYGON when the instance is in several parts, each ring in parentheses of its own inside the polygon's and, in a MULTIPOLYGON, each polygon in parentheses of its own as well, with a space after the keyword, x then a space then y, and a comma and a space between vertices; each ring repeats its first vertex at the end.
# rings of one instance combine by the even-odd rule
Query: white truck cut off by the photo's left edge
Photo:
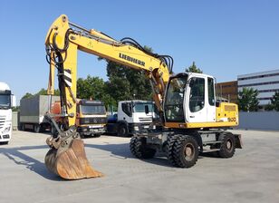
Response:
POLYGON ((12 107, 15 96, 5 82, 0 82, 0 142, 7 144, 12 137, 12 107))

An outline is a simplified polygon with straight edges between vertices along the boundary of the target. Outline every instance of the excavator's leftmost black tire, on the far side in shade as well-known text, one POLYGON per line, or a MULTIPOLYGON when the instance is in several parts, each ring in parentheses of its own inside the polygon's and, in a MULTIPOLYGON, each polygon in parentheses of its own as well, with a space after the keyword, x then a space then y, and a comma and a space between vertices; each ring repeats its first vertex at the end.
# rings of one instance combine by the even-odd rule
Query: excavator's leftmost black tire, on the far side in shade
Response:
POLYGON ((145 144, 145 139, 139 137, 130 139, 130 152, 138 159, 151 159, 156 154, 156 150, 149 148, 145 144))

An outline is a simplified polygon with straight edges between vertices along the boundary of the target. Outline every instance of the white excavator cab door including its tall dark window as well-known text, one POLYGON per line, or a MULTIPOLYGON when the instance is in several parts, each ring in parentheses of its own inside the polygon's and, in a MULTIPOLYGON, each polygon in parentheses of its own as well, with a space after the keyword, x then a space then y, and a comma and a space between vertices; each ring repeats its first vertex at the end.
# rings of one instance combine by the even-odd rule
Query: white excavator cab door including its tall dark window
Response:
POLYGON ((206 77, 190 78, 186 102, 188 122, 207 122, 206 87, 206 77))

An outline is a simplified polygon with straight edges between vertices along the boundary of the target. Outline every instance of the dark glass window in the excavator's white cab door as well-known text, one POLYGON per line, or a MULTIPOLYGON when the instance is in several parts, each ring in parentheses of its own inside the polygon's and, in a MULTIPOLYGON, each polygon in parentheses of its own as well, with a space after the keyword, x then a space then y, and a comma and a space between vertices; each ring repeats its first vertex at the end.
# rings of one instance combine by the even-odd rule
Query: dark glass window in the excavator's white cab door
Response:
POLYGON ((191 112, 197 112, 205 106, 205 79, 192 78, 190 81, 189 109, 191 112))

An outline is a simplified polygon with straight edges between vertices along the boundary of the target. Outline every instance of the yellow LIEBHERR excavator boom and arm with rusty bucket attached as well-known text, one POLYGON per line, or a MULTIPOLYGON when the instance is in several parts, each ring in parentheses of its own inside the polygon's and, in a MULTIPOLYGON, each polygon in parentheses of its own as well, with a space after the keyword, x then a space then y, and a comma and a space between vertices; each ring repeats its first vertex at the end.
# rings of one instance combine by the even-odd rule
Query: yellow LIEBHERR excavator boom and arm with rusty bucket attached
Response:
MULTIPOLYGON (((153 98, 159 111, 162 111, 162 99, 169 74, 172 72, 173 60, 168 55, 149 53, 130 38, 123 38, 119 42, 101 32, 72 24, 64 14, 51 25, 45 38, 45 49, 50 64, 48 93, 54 92, 56 68, 65 122, 64 131, 58 130, 57 136, 52 136, 46 141, 51 147, 45 157, 46 167, 63 179, 101 177, 101 172, 92 169, 86 159, 83 141, 79 139, 74 125, 78 51, 91 53, 144 72, 151 83, 153 98)), ((53 121, 51 115, 47 117, 53 121)))

